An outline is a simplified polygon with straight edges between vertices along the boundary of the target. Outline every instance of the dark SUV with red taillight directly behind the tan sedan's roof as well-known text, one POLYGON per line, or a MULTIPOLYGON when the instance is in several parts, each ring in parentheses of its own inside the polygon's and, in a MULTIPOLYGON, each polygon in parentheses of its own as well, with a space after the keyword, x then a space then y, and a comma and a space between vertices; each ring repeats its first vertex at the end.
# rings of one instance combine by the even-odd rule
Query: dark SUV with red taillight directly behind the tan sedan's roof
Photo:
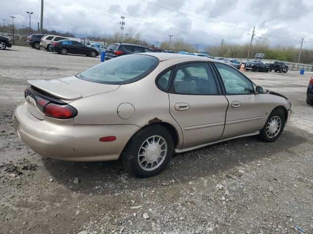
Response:
POLYGON ((126 43, 112 43, 109 45, 108 49, 106 49, 105 60, 114 59, 122 55, 130 55, 133 53, 145 53, 145 52, 153 53, 151 49, 141 46, 141 45, 126 44, 126 43))

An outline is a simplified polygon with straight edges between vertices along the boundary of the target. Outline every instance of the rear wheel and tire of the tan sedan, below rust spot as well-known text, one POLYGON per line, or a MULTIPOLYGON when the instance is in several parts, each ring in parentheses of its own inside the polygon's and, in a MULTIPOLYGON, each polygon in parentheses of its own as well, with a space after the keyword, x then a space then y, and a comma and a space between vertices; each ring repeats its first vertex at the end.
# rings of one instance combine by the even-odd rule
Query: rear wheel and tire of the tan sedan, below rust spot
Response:
POLYGON ((151 125, 137 132, 127 143, 121 158, 125 169, 134 176, 155 176, 171 160, 173 138, 166 128, 151 125))

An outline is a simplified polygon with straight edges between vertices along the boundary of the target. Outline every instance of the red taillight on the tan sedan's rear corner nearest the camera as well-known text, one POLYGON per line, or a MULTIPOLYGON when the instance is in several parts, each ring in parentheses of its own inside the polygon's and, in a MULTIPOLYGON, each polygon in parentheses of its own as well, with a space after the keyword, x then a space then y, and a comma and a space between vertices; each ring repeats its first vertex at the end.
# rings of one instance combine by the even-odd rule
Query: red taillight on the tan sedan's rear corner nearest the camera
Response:
POLYGON ((77 110, 70 105, 58 105, 49 103, 45 106, 44 113, 46 116, 54 118, 73 118, 77 116, 77 110))

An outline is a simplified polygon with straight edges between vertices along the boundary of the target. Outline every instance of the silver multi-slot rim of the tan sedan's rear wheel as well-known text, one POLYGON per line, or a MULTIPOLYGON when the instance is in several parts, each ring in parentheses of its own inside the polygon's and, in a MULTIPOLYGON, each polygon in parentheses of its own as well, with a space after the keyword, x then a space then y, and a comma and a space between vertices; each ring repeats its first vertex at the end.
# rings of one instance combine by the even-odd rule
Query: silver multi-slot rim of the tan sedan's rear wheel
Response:
POLYGON ((161 136, 146 139, 138 152, 139 166, 145 171, 153 171, 164 161, 167 154, 167 143, 161 136))

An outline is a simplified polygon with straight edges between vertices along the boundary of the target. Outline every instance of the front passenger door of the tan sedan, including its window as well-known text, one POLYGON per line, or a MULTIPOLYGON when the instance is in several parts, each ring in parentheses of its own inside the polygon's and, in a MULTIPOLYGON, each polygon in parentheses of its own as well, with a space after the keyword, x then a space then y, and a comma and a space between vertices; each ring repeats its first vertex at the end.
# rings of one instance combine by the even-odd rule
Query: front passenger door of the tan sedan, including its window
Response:
POLYGON ((252 82, 242 73, 226 64, 214 62, 224 84, 228 100, 223 139, 260 130, 266 117, 266 102, 256 94, 252 82))

